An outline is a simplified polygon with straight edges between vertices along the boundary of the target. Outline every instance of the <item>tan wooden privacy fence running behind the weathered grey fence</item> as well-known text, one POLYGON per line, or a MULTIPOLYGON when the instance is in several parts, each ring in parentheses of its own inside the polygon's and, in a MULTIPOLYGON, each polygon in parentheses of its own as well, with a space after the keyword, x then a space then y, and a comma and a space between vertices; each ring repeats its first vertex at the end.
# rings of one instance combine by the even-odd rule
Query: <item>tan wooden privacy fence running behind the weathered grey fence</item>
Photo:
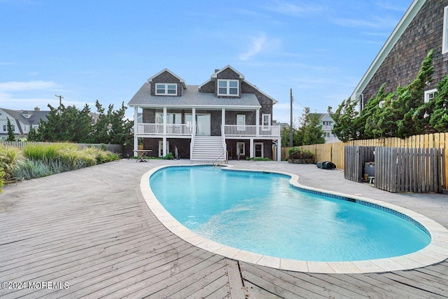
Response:
MULTIPOLYGON (((314 144, 310 146, 300 146, 302 149, 307 149, 314 153, 315 160, 317 161, 331 161, 335 163, 336 167, 339 169, 345 169, 345 166, 349 165, 344 160, 344 146, 373 146, 373 147, 384 147, 384 148, 440 148, 443 151, 440 152, 440 159, 442 159, 440 167, 442 174, 448 173, 448 133, 433 133, 433 134, 421 134, 408 137, 406 139, 400 138, 384 138, 384 139, 367 139, 367 140, 353 140, 347 142, 337 142, 334 144, 314 144)), ((285 160, 288 158, 288 149, 281 148, 281 159, 285 160)), ((376 154, 376 153, 375 153, 376 154)), ((410 153, 409 153, 410 155, 410 153)), ((414 152, 413 155, 418 155, 414 152)), ((423 155, 423 154, 422 154, 423 155)), ((426 153, 424 154, 426 155, 426 153)), ((429 154, 428 154, 429 155, 429 154)), ((418 160, 418 158, 417 158, 418 160)), ((396 164, 396 159, 395 159, 396 164)), ((424 164, 426 167, 426 163, 424 164)), ((410 166, 409 166, 410 167, 410 166)), ((416 167, 412 166, 412 172, 416 167)), ((395 171, 395 170, 393 170, 395 171)), ((397 170, 398 171, 398 170, 397 170)), ((425 170, 430 171, 429 169, 425 170)), ((410 170, 408 170, 410 175, 410 170)), ((400 172, 401 173, 401 172, 400 172)), ((412 173, 413 174, 413 173, 412 173)), ((401 178, 400 178, 401 179, 401 178)), ((406 179, 405 179, 406 180, 406 179)), ((448 186, 448 176, 444 175, 443 186, 448 186)), ((375 183, 379 183, 375 180, 375 183)), ((414 187, 412 187, 414 188, 414 187)), ((416 186, 418 190, 418 186, 416 186)), ((398 191, 400 192, 400 191, 398 191)), ((414 191, 412 191, 414 192, 414 191)))

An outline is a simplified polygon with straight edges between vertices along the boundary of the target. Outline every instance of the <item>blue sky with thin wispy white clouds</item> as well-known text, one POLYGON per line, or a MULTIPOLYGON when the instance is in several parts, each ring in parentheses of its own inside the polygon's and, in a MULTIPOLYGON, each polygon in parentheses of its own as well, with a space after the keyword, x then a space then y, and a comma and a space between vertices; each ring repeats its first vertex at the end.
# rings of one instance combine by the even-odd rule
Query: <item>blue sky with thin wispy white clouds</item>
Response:
MULTIPOLYGON (((187 85, 231 65, 278 101, 272 118, 333 111, 412 0, 0 0, 0 108, 119 109, 169 69, 187 85)), ((127 109, 132 118, 134 109, 127 109)))

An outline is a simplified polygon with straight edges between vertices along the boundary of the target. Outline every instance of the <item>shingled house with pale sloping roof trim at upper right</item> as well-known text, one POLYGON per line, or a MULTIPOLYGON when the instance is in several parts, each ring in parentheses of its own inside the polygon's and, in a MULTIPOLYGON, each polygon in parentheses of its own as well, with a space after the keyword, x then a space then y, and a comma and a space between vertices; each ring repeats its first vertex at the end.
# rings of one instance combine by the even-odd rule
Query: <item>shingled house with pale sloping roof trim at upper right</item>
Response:
POLYGON ((386 92, 408 85, 416 78, 430 49, 434 49, 435 69, 422 102, 434 96, 437 83, 448 74, 448 0, 412 1, 351 98, 359 99, 363 109, 384 83, 386 92))

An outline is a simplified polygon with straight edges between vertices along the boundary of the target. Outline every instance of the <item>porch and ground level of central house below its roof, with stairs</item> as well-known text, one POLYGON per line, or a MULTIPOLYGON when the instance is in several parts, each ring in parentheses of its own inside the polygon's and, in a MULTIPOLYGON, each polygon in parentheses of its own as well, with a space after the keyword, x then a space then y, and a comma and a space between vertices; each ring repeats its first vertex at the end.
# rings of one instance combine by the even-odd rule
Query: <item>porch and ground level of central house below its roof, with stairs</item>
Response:
MULTIPOLYGON (((251 97, 251 95, 247 95, 251 97)), ((244 97, 244 96, 243 96, 244 97)), ((255 106, 134 106, 134 148, 143 139, 152 156, 171 152, 190 160, 271 158, 280 160, 280 126, 255 106), (138 109, 143 123, 137 123, 138 109), (260 124, 260 119, 262 124, 260 124)))

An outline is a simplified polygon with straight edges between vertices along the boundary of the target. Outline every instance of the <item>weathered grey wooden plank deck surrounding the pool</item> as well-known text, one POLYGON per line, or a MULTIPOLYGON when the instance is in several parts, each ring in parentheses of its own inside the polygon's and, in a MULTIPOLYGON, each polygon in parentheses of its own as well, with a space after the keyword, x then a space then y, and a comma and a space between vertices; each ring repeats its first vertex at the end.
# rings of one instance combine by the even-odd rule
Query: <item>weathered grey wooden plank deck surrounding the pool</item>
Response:
MULTIPOLYGON (((0 297, 448 298, 447 260, 417 270, 313 274, 198 249, 169 232, 141 197, 141 175, 162 164, 121 160, 7 186, 0 195, 0 282, 22 288, 0 289, 0 297), (52 288, 41 284, 48 281, 52 288)), ((392 195, 308 165, 235 165, 295 172, 309 186, 381 197, 448 225, 447 195, 392 195)))

